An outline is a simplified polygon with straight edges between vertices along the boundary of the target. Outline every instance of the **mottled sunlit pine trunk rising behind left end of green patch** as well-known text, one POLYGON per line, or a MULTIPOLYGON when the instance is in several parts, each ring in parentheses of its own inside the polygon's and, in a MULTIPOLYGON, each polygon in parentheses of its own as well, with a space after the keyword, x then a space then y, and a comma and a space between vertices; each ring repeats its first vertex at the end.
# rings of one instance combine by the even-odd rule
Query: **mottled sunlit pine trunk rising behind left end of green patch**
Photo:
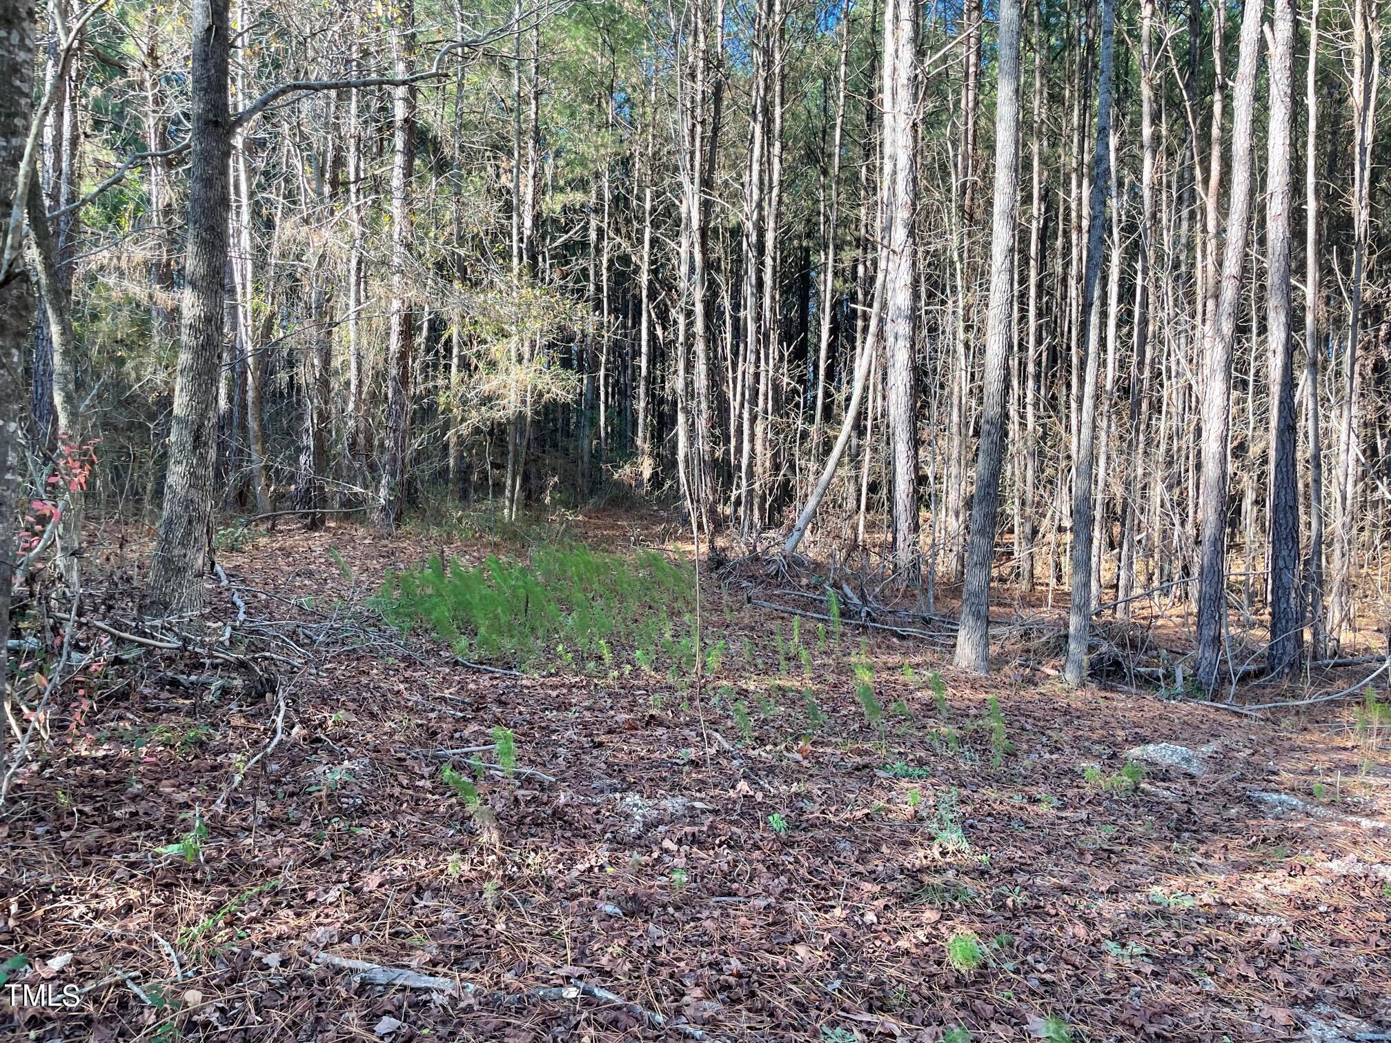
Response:
MULTIPOLYGON (((410 72, 415 56, 415 1, 402 0, 392 8, 391 51, 396 76, 410 72)), ((410 373, 415 328, 410 321, 410 175, 416 159, 416 92, 398 86, 392 92, 391 163, 391 305, 387 346, 387 430, 383 438, 381 506, 378 524, 395 526, 405 502, 410 452, 410 373)))

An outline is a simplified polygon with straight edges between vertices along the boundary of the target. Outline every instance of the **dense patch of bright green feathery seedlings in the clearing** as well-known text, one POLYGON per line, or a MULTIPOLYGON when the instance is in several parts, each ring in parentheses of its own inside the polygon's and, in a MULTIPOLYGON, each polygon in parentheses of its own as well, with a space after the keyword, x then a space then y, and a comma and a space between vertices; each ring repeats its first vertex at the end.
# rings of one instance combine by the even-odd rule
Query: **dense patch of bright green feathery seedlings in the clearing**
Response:
POLYGON ((680 663, 693 656, 693 591, 684 560, 572 544, 477 566, 435 555, 420 569, 389 572, 377 604, 408 633, 433 629, 460 659, 612 669, 615 648, 626 647, 651 669, 659 654, 680 663))

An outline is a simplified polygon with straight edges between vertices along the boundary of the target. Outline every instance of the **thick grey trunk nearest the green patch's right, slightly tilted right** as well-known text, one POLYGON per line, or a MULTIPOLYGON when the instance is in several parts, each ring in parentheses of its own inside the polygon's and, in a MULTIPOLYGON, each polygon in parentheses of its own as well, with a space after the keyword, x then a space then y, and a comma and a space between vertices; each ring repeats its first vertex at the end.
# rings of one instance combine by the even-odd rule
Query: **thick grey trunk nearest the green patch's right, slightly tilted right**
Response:
POLYGON ((981 402, 981 444, 975 458, 975 498, 961 590, 961 629, 956 665, 990 672, 990 566, 995 559, 995 515, 1004 460, 1004 389, 1014 316, 1014 221, 1018 200, 1020 152, 1020 3, 1000 0, 999 65, 995 108, 995 213, 990 228, 990 303, 985 320, 985 388, 981 402))

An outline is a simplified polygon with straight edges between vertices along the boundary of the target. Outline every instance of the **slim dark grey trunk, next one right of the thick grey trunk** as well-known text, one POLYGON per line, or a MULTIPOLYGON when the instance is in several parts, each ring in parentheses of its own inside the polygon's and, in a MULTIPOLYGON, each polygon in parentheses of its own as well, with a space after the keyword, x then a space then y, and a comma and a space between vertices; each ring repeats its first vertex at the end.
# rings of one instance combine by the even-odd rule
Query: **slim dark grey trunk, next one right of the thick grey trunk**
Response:
POLYGON ((1067 624, 1067 662, 1063 676, 1079 687, 1086 680, 1086 648, 1092 623, 1092 484, 1096 470, 1096 370, 1100 355, 1102 245, 1106 193, 1110 188, 1111 67, 1116 50, 1116 0, 1102 0, 1102 68, 1096 89, 1096 152, 1092 159, 1092 199, 1088 223, 1086 278, 1082 284, 1081 324, 1085 337, 1081 412, 1077 423, 1077 466, 1072 473, 1072 594, 1067 624))

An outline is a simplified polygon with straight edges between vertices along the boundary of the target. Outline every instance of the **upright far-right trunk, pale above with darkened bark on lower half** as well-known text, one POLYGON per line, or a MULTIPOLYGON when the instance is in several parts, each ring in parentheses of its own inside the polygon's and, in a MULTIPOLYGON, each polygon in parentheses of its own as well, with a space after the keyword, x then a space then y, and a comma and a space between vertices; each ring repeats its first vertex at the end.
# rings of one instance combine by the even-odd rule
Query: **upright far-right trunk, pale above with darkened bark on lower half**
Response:
MULTIPOLYGON (((1266 337, 1270 341, 1270 644, 1266 668, 1285 674, 1299 665, 1303 631, 1295 583, 1299 570, 1294 337, 1289 293, 1289 127, 1294 86, 1294 0, 1274 0, 1270 49, 1270 125, 1266 172, 1266 337)), ((1317 394, 1316 388, 1310 392, 1317 394)))

